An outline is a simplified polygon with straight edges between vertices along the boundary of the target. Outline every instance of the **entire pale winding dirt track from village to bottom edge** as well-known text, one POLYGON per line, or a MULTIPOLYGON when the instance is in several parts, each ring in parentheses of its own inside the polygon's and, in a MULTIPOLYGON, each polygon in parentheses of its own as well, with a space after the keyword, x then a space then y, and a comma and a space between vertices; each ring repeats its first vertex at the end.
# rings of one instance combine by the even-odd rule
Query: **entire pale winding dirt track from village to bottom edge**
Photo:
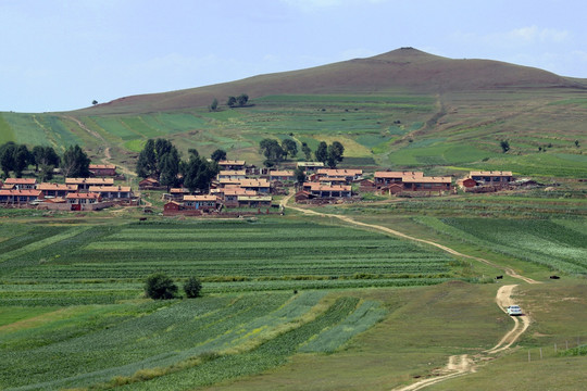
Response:
MULTIPOLYGON (((282 200, 280 205, 284 209, 287 205, 287 202, 291 199, 291 197, 292 197, 292 194, 289 194, 289 195, 287 195, 286 198, 284 198, 282 200)), ((386 234, 391 234, 394 236, 397 236, 397 237, 400 237, 400 238, 403 238, 403 239, 408 239, 408 240, 412 240, 412 241, 434 245, 434 247, 436 247, 436 248, 438 248, 438 249, 440 249, 442 251, 446 251, 446 252, 448 252, 450 254, 453 254, 453 255, 457 255, 457 256, 462 256, 462 257, 470 258, 470 260, 474 260, 474 261, 477 261, 477 262, 482 262, 484 264, 487 264, 487 265, 490 265, 490 266, 496 267, 498 269, 501 269, 508 276, 520 279, 520 280, 522 280, 524 282, 527 282, 527 283, 541 283, 541 282, 536 281, 536 280, 534 280, 532 278, 528 278, 528 277, 525 277, 525 276, 522 276, 522 275, 515 273, 512 268, 499 266, 499 265, 497 265, 497 264, 495 264, 495 263, 492 263, 490 261, 484 260, 484 258, 478 257, 478 256, 472 256, 472 255, 462 254, 462 253, 460 253, 460 252, 458 252, 458 251, 455 251, 455 250, 453 250, 451 248, 448 248, 446 245, 442 245, 440 243, 436 243, 434 241, 415 238, 415 237, 405 235, 403 232, 397 231, 395 229, 390 229, 390 228, 374 225, 374 224, 366 224, 366 223, 357 222, 357 220, 354 220, 354 219, 352 219, 351 217, 348 217, 348 216, 339 216, 339 215, 333 215, 333 214, 326 214, 326 213, 319 213, 319 212, 315 212, 315 211, 305 210, 305 209, 302 209, 302 207, 297 207, 297 206, 291 206, 291 205, 288 205, 287 207, 292 209, 295 211, 299 211, 299 212, 304 213, 307 215, 317 215, 317 216, 323 216, 323 217, 336 217, 336 218, 338 218, 340 220, 353 224, 355 226, 367 227, 367 228, 376 229, 376 230, 379 230, 379 231, 384 231, 386 234)), ((517 285, 502 286, 497 291, 496 303, 498 304, 498 306, 505 314, 508 313, 507 307, 509 305, 512 305, 511 295, 512 295, 512 292, 513 292, 515 287, 517 287, 517 285)), ((511 316, 511 318, 514 321, 514 327, 510 331, 508 331, 503 336, 503 338, 501 338, 501 340, 494 348, 482 352, 480 354, 476 355, 474 358, 470 357, 467 354, 452 355, 452 356, 449 357, 447 366, 434 374, 435 377, 424 379, 424 380, 417 381, 415 383, 412 383, 410 386, 399 388, 399 389, 395 389, 395 390, 397 390, 397 391, 422 390, 422 389, 424 389, 424 388, 426 388, 428 386, 438 383, 440 381, 445 381, 445 380, 448 380, 448 379, 452 379, 452 378, 455 378, 455 377, 459 377, 459 376, 463 376, 463 375, 467 375, 467 374, 476 371, 475 362, 478 362, 478 361, 480 361, 483 358, 487 358, 488 356, 490 356, 492 354, 496 354, 496 353, 499 353, 499 352, 502 352, 504 350, 510 349, 510 346, 529 327, 530 318, 527 315, 521 317, 522 323, 519 320, 517 317, 511 316)))

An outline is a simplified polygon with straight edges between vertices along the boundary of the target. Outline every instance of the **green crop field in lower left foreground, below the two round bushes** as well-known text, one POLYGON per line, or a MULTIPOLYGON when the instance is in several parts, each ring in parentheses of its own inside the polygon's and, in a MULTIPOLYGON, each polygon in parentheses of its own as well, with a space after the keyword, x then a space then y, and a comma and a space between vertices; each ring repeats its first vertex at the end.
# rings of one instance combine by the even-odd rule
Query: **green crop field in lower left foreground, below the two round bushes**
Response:
POLYGON ((201 352, 236 348, 253 338, 253 330, 302 316, 323 295, 309 292, 294 300, 285 293, 243 295, 223 302, 212 299, 213 305, 207 305, 207 300, 176 302, 77 338, 2 351, 0 357, 13 364, 3 371, 5 380, 0 384, 88 386, 141 368, 173 365, 201 352))

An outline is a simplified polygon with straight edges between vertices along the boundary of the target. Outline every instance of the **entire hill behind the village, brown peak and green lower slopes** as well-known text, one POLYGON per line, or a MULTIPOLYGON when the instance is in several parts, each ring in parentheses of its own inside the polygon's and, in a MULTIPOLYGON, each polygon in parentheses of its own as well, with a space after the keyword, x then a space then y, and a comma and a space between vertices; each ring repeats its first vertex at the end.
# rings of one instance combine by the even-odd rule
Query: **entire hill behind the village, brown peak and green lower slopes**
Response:
POLYGON ((265 137, 314 147, 340 140, 346 165, 428 172, 512 169, 587 177, 587 80, 489 60, 452 60, 402 48, 369 59, 126 97, 67 113, 0 113, 0 142, 83 144, 134 166, 148 138, 183 151, 261 163, 265 137), (228 96, 250 104, 228 109, 228 96), (216 98, 220 111, 207 109, 216 98), (501 140, 509 140, 504 154, 501 140), (578 141, 578 147, 575 141, 578 141))

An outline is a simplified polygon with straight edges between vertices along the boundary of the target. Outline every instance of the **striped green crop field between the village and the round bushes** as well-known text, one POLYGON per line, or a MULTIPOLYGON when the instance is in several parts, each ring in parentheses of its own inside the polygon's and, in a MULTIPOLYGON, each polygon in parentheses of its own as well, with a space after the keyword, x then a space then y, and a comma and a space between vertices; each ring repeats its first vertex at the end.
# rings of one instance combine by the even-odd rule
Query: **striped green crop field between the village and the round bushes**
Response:
POLYGON ((160 270, 196 275, 205 293, 429 285, 460 273, 447 255, 384 235, 271 219, 15 232, 0 242, 2 305, 136 299, 160 270))

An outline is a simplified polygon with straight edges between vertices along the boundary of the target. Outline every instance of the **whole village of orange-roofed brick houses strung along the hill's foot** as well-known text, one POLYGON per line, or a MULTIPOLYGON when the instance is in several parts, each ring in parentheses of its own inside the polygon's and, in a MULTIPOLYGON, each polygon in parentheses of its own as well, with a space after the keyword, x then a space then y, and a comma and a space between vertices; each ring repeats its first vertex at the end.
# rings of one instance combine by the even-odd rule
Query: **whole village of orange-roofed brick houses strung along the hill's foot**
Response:
POLYGON ((376 171, 328 168, 322 162, 296 162, 297 169, 270 169, 224 160, 207 193, 190 193, 186 188, 166 188, 151 177, 133 189, 112 164, 90 164, 91 177, 65 178, 64 184, 37 182, 36 178, 7 178, 0 181, 0 204, 49 211, 99 211, 114 205, 145 205, 142 194, 161 193, 163 215, 218 215, 235 211, 283 213, 275 197, 294 191, 297 203, 327 204, 360 201, 364 194, 401 197, 489 192, 510 188, 511 172, 470 172, 463 178, 426 176, 417 171, 376 171), (303 177, 296 173, 303 173, 303 177))

